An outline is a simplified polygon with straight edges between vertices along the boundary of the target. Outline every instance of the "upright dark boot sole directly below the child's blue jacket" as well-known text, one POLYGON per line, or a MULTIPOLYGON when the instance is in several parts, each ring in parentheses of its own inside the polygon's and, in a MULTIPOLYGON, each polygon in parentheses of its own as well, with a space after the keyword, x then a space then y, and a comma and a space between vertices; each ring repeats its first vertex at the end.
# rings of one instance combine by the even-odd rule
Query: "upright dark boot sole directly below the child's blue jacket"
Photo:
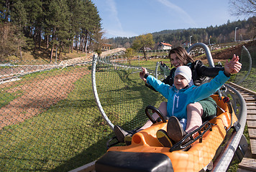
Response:
POLYGON ((180 121, 175 116, 171 116, 168 120, 167 133, 169 138, 175 143, 178 143, 187 134, 187 132, 183 130, 180 121))

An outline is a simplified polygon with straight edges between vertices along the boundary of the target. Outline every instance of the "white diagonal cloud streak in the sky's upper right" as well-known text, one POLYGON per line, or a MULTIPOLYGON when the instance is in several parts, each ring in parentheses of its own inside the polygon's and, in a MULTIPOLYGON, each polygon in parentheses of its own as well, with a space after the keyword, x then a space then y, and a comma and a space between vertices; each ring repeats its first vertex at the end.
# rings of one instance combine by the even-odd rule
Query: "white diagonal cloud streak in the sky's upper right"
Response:
POLYGON ((159 1, 161 4, 167 6, 168 8, 173 9, 174 11, 176 11, 178 16, 180 18, 182 18, 183 22, 186 22, 191 27, 197 27, 196 22, 193 21, 191 16, 186 11, 181 9, 179 6, 176 6, 175 4, 171 3, 168 0, 157 0, 157 1, 159 1))

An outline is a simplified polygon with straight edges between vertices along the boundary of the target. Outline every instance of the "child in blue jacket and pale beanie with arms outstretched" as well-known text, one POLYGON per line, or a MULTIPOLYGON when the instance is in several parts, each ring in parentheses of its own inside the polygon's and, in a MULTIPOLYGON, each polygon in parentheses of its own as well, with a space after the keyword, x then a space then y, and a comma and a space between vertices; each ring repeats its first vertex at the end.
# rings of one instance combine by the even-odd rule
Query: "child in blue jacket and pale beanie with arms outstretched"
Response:
MULTIPOLYGON (((239 57, 233 57, 233 62, 238 62, 239 57)), ((157 139, 164 147, 171 147, 173 143, 180 141, 186 133, 185 129, 179 122, 179 120, 187 119, 186 106, 191 102, 197 102, 210 95, 212 95, 216 90, 221 87, 227 80, 229 80, 230 73, 233 72, 232 66, 227 63, 224 67, 224 71, 219 72, 219 75, 214 77, 209 83, 205 83, 200 86, 191 85, 192 72, 191 68, 186 65, 181 65, 175 70, 174 84, 173 86, 164 84, 155 77, 149 75, 145 68, 142 68, 140 72, 140 77, 142 80, 147 80, 157 91, 159 91, 167 100, 167 116, 168 124, 167 131, 161 129, 157 130, 157 139)), ((201 112, 203 108, 199 108, 196 113, 198 113, 198 118, 201 118, 201 112)), ((194 114, 193 114, 194 115, 194 114)), ((192 119, 192 118, 191 118, 192 119)), ((200 125, 198 123, 189 124, 190 128, 198 128, 200 125)))

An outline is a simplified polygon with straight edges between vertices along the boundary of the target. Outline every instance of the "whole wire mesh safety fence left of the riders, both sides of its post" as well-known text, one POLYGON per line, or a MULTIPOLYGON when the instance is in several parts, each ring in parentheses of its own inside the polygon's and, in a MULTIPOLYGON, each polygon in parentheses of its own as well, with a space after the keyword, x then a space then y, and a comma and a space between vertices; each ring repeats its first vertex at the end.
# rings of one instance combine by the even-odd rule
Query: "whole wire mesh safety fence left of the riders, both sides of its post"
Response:
MULTIPOLYGON (((147 105, 158 108, 166 101, 139 76, 147 67, 158 79, 165 77, 162 58, 154 58, 98 58, 96 90, 113 125, 138 128, 147 121, 147 105)), ((93 94, 92 65, 92 57, 0 63, 0 171, 70 171, 106 152, 114 133, 93 94)))

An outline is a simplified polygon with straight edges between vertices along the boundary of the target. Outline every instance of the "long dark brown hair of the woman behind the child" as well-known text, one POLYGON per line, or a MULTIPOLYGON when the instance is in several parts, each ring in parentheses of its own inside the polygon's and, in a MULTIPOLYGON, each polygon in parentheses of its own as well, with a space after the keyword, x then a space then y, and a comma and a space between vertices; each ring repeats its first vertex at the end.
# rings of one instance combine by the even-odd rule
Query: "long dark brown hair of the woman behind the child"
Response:
MULTIPOLYGON (((170 54, 173 54, 173 53, 175 53, 178 59, 180 59, 181 62, 184 62, 185 65, 188 65, 188 63, 190 62, 194 62, 191 55, 189 55, 186 49, 184 49, 183 47, 175 47, 174 49, 170 49, 170 52, 168 54, 169 59, 170 59, 170 54)), ((173 65, 171 66, 173 67, 173 65)))

